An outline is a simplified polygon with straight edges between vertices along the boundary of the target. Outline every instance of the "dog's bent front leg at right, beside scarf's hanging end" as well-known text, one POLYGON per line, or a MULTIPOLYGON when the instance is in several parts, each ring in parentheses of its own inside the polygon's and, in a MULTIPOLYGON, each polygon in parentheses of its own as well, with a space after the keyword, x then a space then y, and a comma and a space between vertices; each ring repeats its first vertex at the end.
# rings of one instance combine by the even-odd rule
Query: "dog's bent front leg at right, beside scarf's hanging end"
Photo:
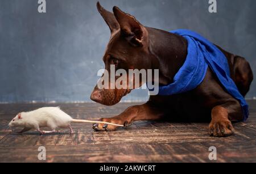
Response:
POLYGON ((226 137, 234 133, 232 120, 241 120, 241 106, 238 102, 218 105, 212 109, 212 121, 209 134, 214 137, 226 137))

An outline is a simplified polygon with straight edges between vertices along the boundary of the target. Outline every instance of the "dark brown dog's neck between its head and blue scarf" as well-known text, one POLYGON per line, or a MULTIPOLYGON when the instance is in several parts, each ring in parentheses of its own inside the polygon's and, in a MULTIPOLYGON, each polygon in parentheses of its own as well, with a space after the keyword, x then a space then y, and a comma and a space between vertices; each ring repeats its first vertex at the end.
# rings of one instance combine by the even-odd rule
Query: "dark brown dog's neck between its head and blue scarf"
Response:
POLYGON ((160 29, 148 28, 152 69, 159 69, 159 84, 167 85, 187 57, 187 40, 160 29))

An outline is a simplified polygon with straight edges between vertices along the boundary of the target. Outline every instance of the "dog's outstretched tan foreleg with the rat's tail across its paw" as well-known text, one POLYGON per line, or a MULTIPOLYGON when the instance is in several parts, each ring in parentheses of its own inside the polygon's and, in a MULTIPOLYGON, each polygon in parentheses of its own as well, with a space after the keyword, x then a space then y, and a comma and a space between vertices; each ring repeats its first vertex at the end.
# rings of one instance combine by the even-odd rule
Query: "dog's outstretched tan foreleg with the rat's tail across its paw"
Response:
MULTIPOLYGON (((163 116, 161 109, 152 106, 150 103, 136 105, 127 108, 123 113, 112 118, 101 118, 100 121, 112 122, 124 126, 131 125, 134 121, 139 120, 159 120, 163 116)), ((94 124, 93 129, 97 131, 114 131, 118 126, 94 124)))

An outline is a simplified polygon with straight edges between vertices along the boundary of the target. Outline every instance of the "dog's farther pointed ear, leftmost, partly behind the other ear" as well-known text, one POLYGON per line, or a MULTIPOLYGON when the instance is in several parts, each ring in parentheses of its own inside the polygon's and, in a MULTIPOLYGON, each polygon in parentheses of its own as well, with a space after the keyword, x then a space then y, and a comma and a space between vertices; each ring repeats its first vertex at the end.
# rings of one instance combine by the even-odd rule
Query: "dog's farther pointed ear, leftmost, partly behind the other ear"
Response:
POLYGON ((106 24, 108 24, 111 33, 117 31, 120 28, 119 23, 117 22, 117 19, 115 19, 114 14, 112 12, 105 10, 100 5, 100 2, 97 2, 97 9, 98 12, 100 12, 102 18, 105 20, 106 24))

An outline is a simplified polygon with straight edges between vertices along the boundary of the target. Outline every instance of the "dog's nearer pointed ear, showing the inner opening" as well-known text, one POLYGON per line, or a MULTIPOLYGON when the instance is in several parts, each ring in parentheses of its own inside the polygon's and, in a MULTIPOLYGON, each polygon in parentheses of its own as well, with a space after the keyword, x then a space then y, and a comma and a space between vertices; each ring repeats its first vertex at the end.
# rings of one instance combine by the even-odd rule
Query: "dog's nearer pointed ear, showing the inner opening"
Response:
POLYGON ((121 28, 121 33, 126 40, 133 46, 143 46, 143 29, 142 24, 134 16, 126 14, 118 7, 113 7, 115 18, 121 28))

